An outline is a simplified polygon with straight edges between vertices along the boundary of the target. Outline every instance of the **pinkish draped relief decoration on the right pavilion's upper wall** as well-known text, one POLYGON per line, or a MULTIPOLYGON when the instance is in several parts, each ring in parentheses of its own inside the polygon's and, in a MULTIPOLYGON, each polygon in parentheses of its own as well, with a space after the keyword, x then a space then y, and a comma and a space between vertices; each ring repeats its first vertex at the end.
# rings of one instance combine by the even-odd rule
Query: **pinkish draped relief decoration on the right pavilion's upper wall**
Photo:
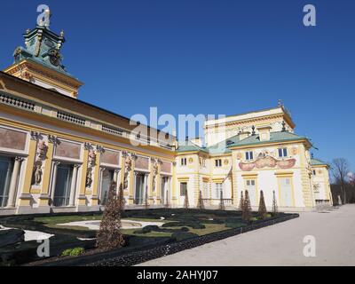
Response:
POLYGON ((264 169, 264 168, 275 168, 278 166, 280 169, 290 169, 294 167, 296 164, 296 159, 288 159, 288 160, 276 160, 272 156, 261 156, 257 158, 256 162, 240 162, 239 166, 241 170, 250 171, 256 169, 264 169))

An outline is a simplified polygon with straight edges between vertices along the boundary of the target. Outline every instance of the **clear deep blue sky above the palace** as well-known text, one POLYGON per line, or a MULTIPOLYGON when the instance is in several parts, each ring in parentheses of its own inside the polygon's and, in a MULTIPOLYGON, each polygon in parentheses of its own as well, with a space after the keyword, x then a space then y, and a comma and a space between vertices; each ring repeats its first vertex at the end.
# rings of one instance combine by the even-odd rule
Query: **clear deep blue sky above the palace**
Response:
POLYGON ((80 99, 130 117, 238 114, 282 99, 314 154, 355 168, 355 2, 348 0, 2 1, 0 67, 12 63, 36 7, 65 30, 80 99), (305 28, 314 4, 317 27, 305 28))

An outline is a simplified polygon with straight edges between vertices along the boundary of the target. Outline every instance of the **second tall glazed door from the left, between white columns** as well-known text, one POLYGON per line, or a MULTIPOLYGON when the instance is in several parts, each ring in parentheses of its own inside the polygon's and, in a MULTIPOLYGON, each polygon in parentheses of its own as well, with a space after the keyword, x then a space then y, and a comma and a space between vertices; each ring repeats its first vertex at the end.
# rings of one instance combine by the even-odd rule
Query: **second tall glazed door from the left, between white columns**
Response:
POLYGON ((60 163, 58 166, 57 180, 54 191, 54 206, 62 207, 69 205, 72 177, 73 165, 60 163))

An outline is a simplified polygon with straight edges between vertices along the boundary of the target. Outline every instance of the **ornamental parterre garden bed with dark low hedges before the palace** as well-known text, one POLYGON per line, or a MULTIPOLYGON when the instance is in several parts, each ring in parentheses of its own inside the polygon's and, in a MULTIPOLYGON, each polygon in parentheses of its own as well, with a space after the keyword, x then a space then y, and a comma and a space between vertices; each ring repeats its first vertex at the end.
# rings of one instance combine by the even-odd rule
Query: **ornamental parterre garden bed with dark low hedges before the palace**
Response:
MULTIPOLYGON (((0 225, 51 233, 51 257, 41 262, 34 262, 36 241, 22 242, 16 246, 0 248, 3 264, 29 265, 132 265, 161 257, 177 251, 200 246, 201 244, 221 240, 239 233, 255 230, 265 225, 272 225, 298 215, 278 213, 277 216, 258 218, 256 213, 252 221, 246 223, 241 219, 239 211, 206 210, 206 209, 135 209, 122 212, 122 220, 130 222, 151 222, 140 228, 122 230, 126 245, 123 248, 108 252, 95 249, 96 231, 85 226, 66 225, 70 222, 93 221, 101 219, 102 213, 75 213, 42 216, 0 217, 0 225), (81 238, 79 240, 78 238, 81 238), (86 241, 86 239, 91 239, 86 241), (59 257, 67 248, 84 248, 83 256, 59 257)), ((82 251, 83 249, 78 249, 82 251)), ((1 259, 0 259, 1 265, 1 259)))

